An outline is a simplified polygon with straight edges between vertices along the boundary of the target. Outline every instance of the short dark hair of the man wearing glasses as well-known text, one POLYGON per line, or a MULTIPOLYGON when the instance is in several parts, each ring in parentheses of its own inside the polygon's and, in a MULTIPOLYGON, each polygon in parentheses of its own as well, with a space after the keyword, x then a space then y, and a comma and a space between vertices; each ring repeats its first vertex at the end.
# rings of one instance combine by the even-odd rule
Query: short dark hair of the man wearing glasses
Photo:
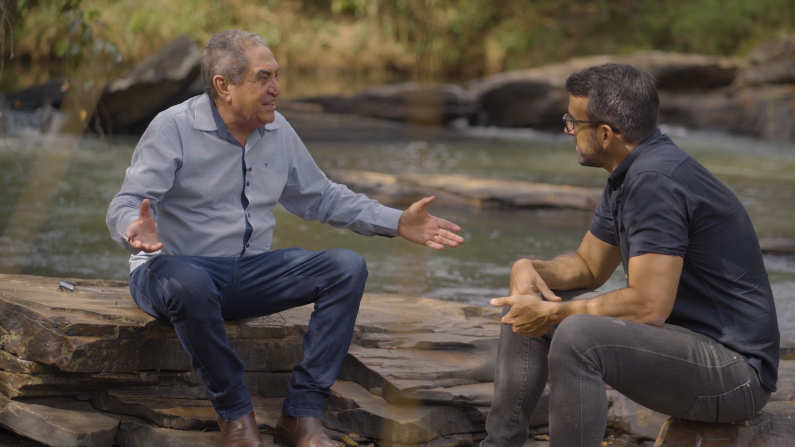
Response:
POLYGON ((588 119, 606 122, 626 142, 642 142, 657 130, 657 81, 641 69, 627 64, 597 65, 573 72, 564 88, 587 97, 588 119))

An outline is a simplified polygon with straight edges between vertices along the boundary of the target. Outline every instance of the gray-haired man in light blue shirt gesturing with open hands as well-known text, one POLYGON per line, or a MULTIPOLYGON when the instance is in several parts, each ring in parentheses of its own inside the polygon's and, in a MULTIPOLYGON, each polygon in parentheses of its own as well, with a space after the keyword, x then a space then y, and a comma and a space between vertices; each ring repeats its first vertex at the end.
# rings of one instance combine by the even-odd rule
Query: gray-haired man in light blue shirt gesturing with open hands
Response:
POLYGON ((460 227, 425 212, 433 197, 401 212, 328 180, 276 111, 279 65, 257 34, 216 34, 201 72, 204 95, 153 119, 107 212, 112 237, 133 253, 130 292, 173 323, 224 446, 262 439, 223 320, 314 303, 274 441, 334 445, 321 423, 324 398, 351 343, 366 265, 347 250, 270 251, 273 207, 435 249, 463 243, 452 232, 460 227))

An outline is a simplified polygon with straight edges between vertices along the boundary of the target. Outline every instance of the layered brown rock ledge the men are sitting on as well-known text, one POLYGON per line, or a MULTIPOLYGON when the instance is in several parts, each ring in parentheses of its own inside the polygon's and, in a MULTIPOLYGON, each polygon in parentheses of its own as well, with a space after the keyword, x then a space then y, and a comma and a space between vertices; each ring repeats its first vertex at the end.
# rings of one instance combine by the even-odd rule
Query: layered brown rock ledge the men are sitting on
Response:
MULTIPOLYGON (((0 426, 45 445, 219 445, 217 414, 169 323, 138 309, 124 282, 72 282, 68 293, 58 278, 0 275, 0 426)), ((227 321, 268 446, 311 311, 227 321)), ((327 402, 327 430, 378 446, 476 445, 498 333, 498 309, 365 294, 327 402)), ((791 363, 782 361, 771 400, 795 396, 791 363)), ((545 392, 530 422, 538 437, 527 445, 548 444, 547 402, 545 392)), ((616 391, 608 403, 608 426, 635 445, 650 445, 666 420, 616 391)), ((771 412, 760 421, 783 421, 781 409, 771 412)))

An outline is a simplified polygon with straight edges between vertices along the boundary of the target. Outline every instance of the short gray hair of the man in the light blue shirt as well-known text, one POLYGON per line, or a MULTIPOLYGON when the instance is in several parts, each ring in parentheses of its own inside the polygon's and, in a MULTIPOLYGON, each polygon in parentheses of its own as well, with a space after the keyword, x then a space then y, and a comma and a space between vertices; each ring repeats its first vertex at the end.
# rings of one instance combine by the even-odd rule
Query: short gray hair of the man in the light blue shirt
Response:
POLYGON ((212 78, 221 75, 234 85, 240 84, 243 75, 249 68, 246 49, 251 45, 267 47, 265 39, 257 33, 227 29, 211 37, 201 55, 201 77, 204 82, 204 93, 211 98, 218 96, 212 78))

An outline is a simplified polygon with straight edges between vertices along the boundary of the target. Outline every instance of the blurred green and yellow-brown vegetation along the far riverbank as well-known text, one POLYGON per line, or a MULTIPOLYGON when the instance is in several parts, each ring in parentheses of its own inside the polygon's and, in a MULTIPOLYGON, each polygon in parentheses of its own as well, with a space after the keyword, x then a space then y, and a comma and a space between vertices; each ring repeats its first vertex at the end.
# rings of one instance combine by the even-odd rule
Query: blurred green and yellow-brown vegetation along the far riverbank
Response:
POLYGON ((113 56, 122 71, 180 34, 203 46, 228 28, 262 34, 290 73, 421 82, 648 49, 741 56, 795 32, 795 0, 0 0, 0 6, 2 90, 64 76, 99 54, 113 56))

